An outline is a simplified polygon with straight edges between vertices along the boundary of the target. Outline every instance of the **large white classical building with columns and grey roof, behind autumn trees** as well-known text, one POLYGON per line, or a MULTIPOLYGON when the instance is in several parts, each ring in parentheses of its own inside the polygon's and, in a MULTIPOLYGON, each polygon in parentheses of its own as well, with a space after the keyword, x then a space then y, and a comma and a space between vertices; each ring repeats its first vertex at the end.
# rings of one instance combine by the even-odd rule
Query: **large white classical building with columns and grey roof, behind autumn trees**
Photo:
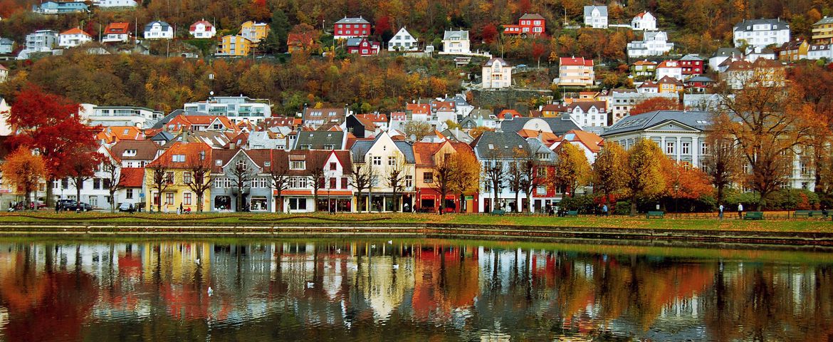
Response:
MULTIPOLYGON (((685 110, 660 110, 622 118, 601 134, 605 143, 631 148, 647 138, 660 146, 668 158, 701 168, 708 152, 706 133, 714 113, 685 110)), ((789 185, 795 189, 813 189, 815 180, 809 162, 794 158, 789 185)))

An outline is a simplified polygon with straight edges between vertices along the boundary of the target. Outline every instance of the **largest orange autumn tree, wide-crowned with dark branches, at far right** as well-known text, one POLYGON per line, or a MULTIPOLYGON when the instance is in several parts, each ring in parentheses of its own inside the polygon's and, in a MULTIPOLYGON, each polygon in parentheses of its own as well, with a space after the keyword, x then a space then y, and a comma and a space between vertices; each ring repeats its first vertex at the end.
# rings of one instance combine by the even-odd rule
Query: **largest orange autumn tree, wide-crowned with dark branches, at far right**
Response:
POLYGON ((776 68, 756 68, 745 81, 741 89, 723 93, 721 113, 731 118, 727 130, 749 165, 746 184, 760 194, 760 209, 786 183, 793 160, 801 146, 810 144, 809 133, 818 120, 801 111, 776 68))

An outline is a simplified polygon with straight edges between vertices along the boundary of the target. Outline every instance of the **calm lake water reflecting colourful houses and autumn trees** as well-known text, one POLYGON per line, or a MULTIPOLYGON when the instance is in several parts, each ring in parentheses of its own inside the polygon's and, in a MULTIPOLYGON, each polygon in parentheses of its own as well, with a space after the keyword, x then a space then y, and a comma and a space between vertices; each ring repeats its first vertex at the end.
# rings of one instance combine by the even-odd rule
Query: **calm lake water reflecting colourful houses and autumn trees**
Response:
POLYGON ((0 340, 828 341, 830 256, 452 240, 0 240, 0 340))

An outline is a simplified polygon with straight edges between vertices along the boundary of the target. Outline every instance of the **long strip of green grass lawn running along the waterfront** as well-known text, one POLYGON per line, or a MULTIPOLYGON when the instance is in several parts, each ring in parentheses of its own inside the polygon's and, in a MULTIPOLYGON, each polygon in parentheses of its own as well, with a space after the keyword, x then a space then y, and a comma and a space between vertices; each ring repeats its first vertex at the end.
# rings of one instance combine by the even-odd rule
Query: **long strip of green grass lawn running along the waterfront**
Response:
POLYGON ((61 213, 50 211, 0 214, 0 224, 164 224, 164 225, 281 225, 281 224, 482 224, 518 227, 582 227, 607 229, 689 229, 741 230, 756 232, 833 233, 830 219, 778 219, 748 221, 739 219, 645 219, 637 217, 557 218, 550 216, 484 214, 110 214, 102 212, 61 213))

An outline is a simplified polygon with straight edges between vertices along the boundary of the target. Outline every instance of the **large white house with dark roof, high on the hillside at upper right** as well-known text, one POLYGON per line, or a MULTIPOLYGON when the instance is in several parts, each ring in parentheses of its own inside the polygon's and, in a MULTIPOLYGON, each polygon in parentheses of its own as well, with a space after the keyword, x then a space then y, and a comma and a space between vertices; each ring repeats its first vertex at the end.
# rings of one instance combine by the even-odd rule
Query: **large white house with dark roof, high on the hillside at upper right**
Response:
POLYGON ((770 45, 781 46, 790 41, 790 24, 778 19, 744 20, 732 30, 732 42, 735 47, 749 45, 753 48, 766 48, 770 45))

